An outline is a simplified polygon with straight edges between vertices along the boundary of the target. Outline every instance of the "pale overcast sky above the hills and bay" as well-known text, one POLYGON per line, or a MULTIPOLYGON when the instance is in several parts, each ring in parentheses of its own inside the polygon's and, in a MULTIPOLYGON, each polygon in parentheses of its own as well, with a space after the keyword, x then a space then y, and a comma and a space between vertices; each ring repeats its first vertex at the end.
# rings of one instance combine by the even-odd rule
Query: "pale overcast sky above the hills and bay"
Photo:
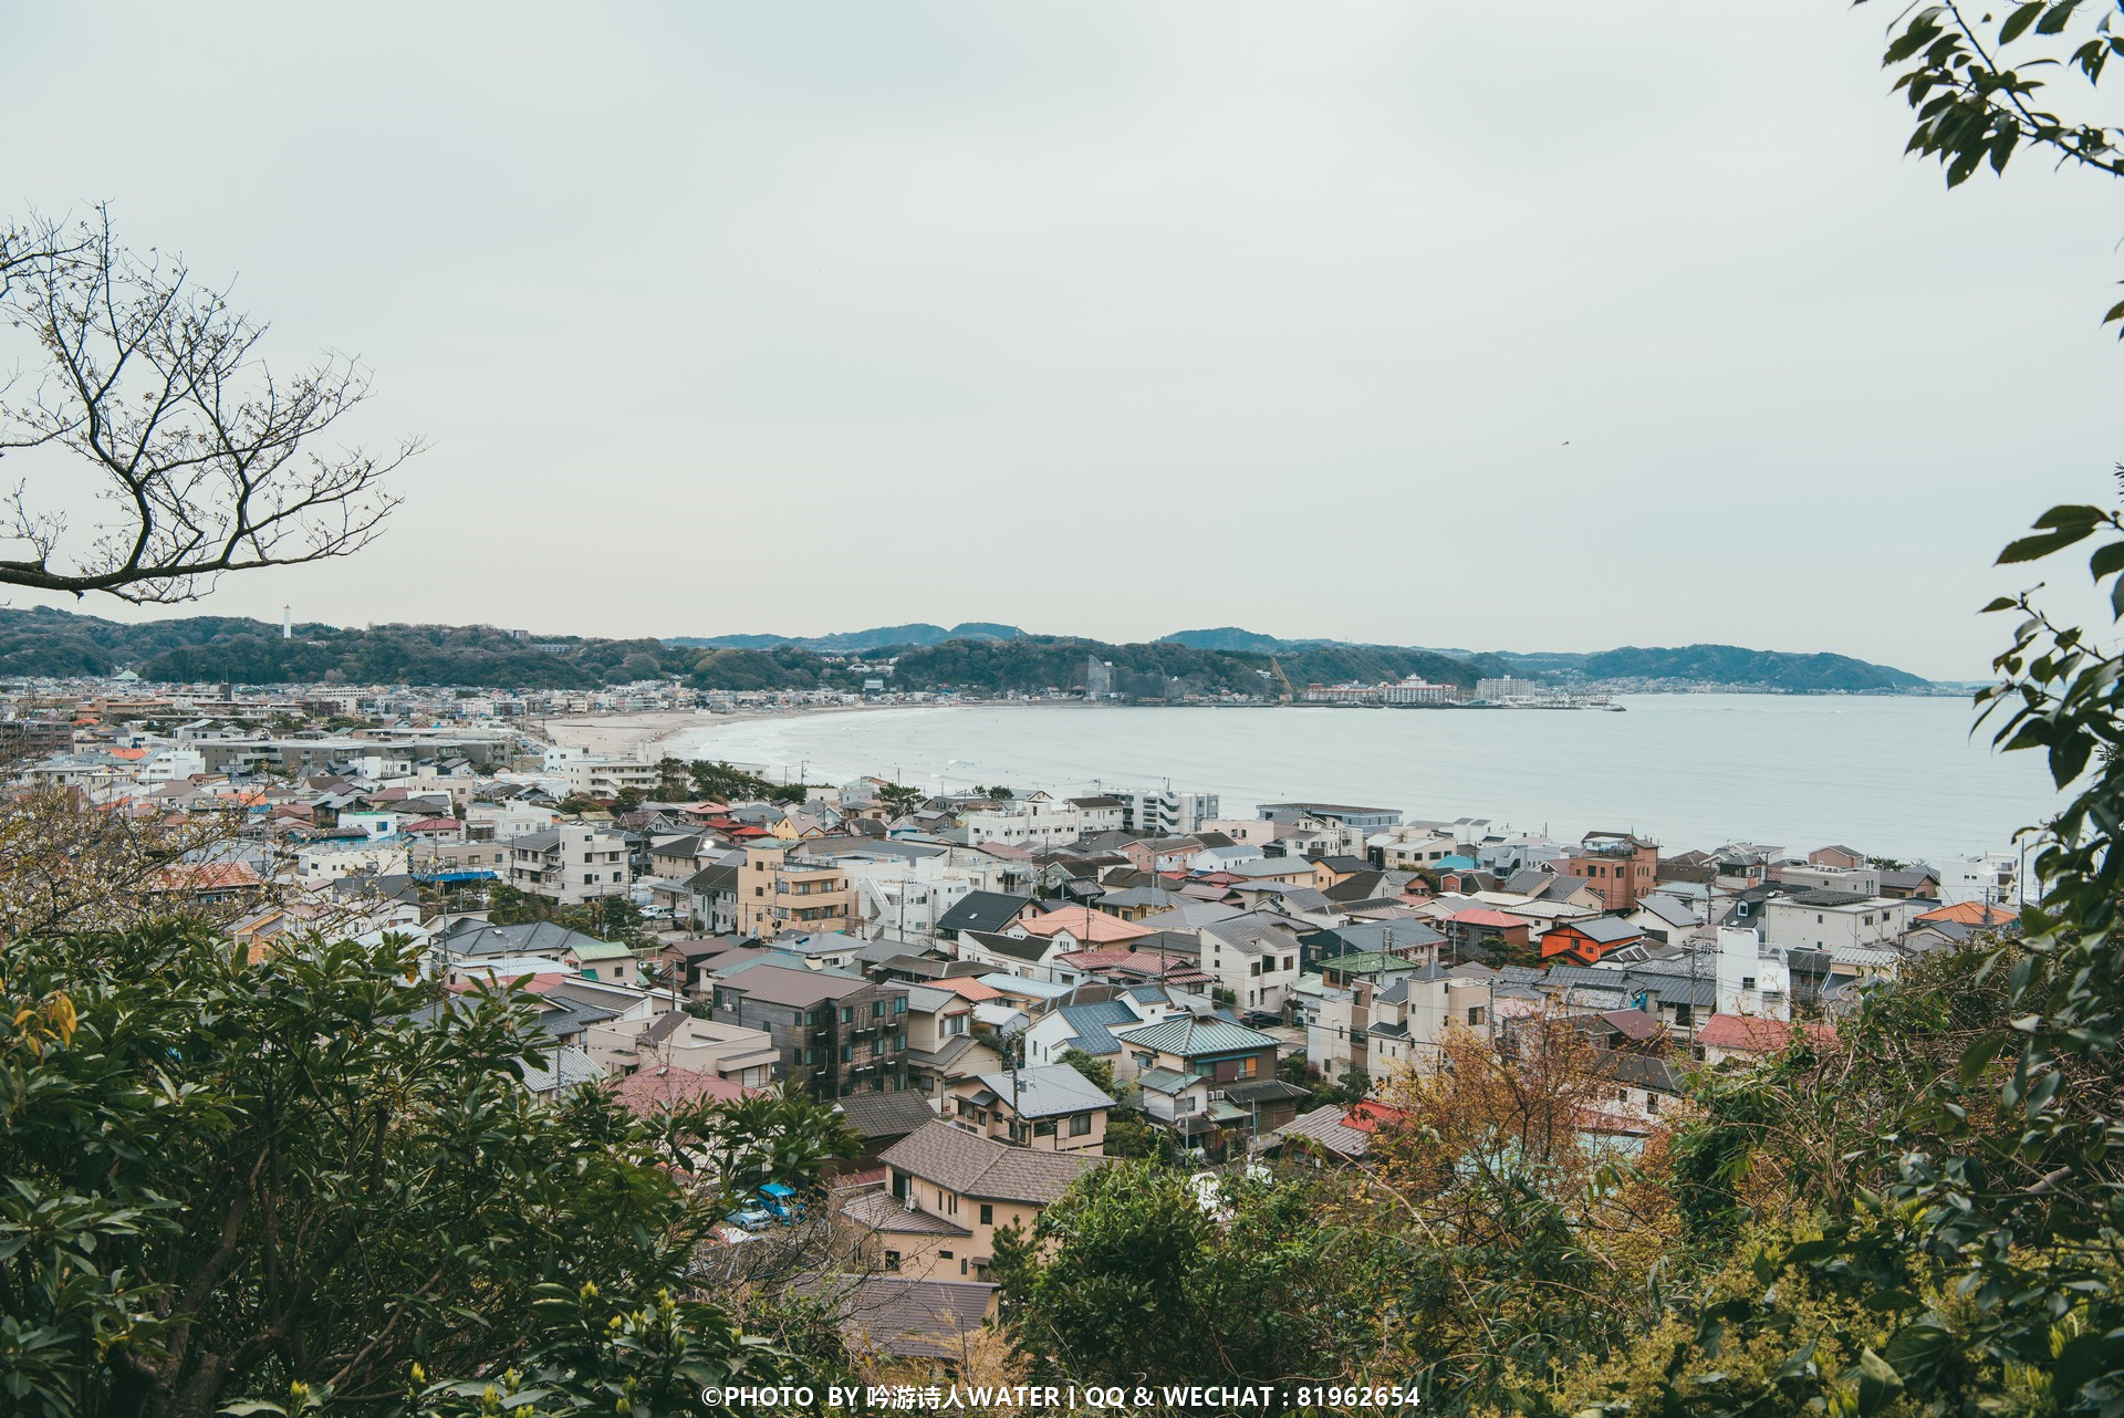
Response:
POLYGON ((108 202, 427 442, 361 556, 153 616, 1967 679, 2124 456, 2124 212, 1950 195, 1890 17, 0 0, 0 212, 108 202))

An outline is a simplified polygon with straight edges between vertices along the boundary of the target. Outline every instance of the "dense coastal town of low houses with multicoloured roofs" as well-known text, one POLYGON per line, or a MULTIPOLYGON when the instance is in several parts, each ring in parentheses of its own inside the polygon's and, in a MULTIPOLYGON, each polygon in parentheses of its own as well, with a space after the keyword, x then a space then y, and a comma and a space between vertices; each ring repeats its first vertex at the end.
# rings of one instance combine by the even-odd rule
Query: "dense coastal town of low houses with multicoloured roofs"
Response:
MULTIPOLYGON (((0 745, 17 805, 161 832, 136 875, 157 913, 253 955, 410 940, 442 991, 527 989, 531 1095, 833 1108, 860 1159, 820 1204, 847 1246, 816 1265, 918 1316, 860 1327, 905 1361, 992 1320, 998 1235, 1109 1159, 1361 1165, 1455 1049, 1514 1057, 1559 1025, 1597 1078, 1574 1127, 1629 1155, 1686 1114, 1689 1070, 1833 1038, 1869 985, 2020 919, 2001 853, 1230 815, 1213 785, 928 796, 550 734, 644 707, 692 705, 45 681, 11 692, 0 745)), ((816 1208, 765 1189, 720 1238, 739 1255, 805 1225, 816 1208)))

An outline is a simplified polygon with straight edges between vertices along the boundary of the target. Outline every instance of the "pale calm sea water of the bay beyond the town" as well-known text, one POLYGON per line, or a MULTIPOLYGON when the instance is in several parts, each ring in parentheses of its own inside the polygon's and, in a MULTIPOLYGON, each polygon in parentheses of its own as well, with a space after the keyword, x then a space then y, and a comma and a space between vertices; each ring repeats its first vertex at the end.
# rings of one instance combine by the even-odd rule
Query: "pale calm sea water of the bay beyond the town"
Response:
POLYGON ((1627 713, 1472 709, 894 707, 686 730, 669 751, 932 792, 1217 792, 1228 817, 1294 798, 1489 817, 1667 851, 1846 843, 1892 858, 2011 849, 2058 807, 2039 754, 1971 737, 1963 698, 1631 694, 1627 713))

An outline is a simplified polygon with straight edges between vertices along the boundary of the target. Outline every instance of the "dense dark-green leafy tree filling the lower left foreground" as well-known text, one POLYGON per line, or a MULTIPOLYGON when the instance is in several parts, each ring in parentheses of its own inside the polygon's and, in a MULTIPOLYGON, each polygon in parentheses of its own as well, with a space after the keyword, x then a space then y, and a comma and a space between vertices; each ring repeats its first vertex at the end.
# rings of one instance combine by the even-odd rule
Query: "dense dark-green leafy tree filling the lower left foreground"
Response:
MULTIPOLYGON (((198 923, 13 943, 4 1407, 463 1414, 495 1384, 510 1412, 631 1399, 648 1418, 686 1384, 771 1371, 688 1299, 735 1182, 684 1187, 667 1138, 601 1089, 531 1097, 518 1074, 546 1047, 527 996, 442 996, 395 940, 257 962, 198 923)), ((726 1155, 809 1180, 816 1146, 748 1123, 726 1155)))

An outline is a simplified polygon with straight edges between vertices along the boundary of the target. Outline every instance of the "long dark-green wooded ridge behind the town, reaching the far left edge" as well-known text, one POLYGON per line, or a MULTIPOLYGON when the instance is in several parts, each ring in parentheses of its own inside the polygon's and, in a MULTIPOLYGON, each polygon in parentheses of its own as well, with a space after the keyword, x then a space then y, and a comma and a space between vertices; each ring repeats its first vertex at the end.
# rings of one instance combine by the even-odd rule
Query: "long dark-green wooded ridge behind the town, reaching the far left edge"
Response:
MULTIPOLYGON (((896 656, 892 688, 954 688, 977 694, 1068 690, 1085 684, 1092 660, 1113 667, 1121 694, 1260 694, 1268 656, 1187 645, 1109 645, 1073 637, 947 639, 886 645, 896 656)), ((656 639, 527 637, 495 626, 338 628, 280 626, 229 616, 187 616, 121 624, 57 609, 0 609, 0 675, 110 675, 130 669, 157 681, 234 684, 440 684, 510 690, 573 690, 678 675, 703 690, 858 688, 875 669, 833 662, 799 645, 701 647, 656 639)), ((1423 675, 1472 686, 1500 662, 1457 660, 1423 650, 1332 645, 1283 656, 1296 684, 1423 675)))

